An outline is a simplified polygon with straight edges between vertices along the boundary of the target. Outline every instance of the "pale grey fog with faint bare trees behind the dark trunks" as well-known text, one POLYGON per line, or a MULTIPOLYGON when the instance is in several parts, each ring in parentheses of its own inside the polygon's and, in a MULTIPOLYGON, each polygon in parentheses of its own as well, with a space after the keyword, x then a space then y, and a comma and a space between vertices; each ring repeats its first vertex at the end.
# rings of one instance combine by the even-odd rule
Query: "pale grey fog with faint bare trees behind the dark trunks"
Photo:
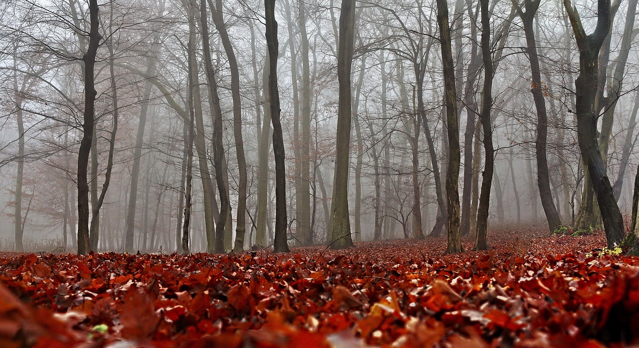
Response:
MULTIPOLYGON (((0 3, 0 250, 77 250, 78 159, 87 106, 83 59, 91 46, 89 3, 0 3), (16 245, 20 233, 22 248, 16 245)), ((530 1, 521 6, 525 3, 530 1)), ((628 2, 612 5, 612 26, 598 56, 594 103, 606 175, 628 219, 639 163, 638 38, 636 25, 626 25, 635 20, 636 0, 630 3, 630 9, 628 2)), ((90 223, 95 225, 91 236, 97 238, 92 250, 184 252, 187 215, 190 252, 212 251, 211 237, 222 234, 224 251, 237 251, 240 245, 273 246, 276 173, 268 118, 264 3, 204 4, 208 58, 202 4, 98 1, 95 130, 88 160, 90 223), (224 26, 215 16, 221 16, 224 26), (220 32, 227 33, 233 58, 220 32), (238 86, 233 84, 235 60, 238 86), (234 103, 235 91, 240 98, 234 103), (217 108, 221 127, 215 123, 217 108), (238 115, 241 124, 234 119, 238 115), (245 168, 236 147, 240 130, 245 168), (238 242, 243 170, 246 234, 238 242), (219 189, 224 185, 231 220, 224 233, 215 228, 212 234, 224 208, 219 189), (189 197, 192 208, 185 215, 189 197), (93 213, 96 206, 99 216, 93 213), (208 218, 213 221, 210 226, 208 218)), ((587 33, 594 31, 597 2, 573 4, 587 33)), ((450 1, 448 7, 461 148, 461 235, 474 236, 486 163, 479 120, 486 79, 481 11, 479 4, 463 0, 450 1)), ((496 152, 488 228, 550 229, 538 185, 535 140, 540 128, 523 22, 511 1, 493 0, 489 8, 494 67, 490 122, 496 152)), ((444 202, 450 154, 436 12, 435 1, 357 1, 346 185, 355 242, 422 238, 419 220, 424 236, 446 235, 446 227, 436 223, 438 216, 445 216, 438 197, 444 202)), ((331 243, 335 149, 344 140, 336 135, 340 15, 340 3, 334 0, 275 3, 290 246, 331 243)), ((541 1, 533 23, 541 70, 538 87, 548 114, 544 153, 551 200, 563 225, 601 229, 598 208, 595 213, 582 211, 597 200, 588 190, 590 177, 584 175, 588 170, 578 145, 575 80, 580 50, 573 28, 564 4, 555 0, 541 1)))

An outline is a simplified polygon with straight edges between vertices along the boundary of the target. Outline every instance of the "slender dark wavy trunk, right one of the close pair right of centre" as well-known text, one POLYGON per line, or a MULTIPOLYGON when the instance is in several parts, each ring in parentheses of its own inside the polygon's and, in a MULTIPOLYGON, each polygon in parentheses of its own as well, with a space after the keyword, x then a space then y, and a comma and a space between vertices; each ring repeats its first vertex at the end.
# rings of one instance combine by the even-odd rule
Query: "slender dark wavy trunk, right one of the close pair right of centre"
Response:
POLYGON ((480 0, 481 6, 481 52, 484 61, 484 89, 481 114, 482 130, 484 131, 484 153, 486 162, 482 174, 481 196, 477 210, 477 235, 473 250, 488 250, 486 230, 488 227, 488 210, 490 208, 490 189, 495 167, 495 149, 493 148, 493 125, 491 122, 491 108, 493 106, 493 57, 490 50, 490 13, 488 0, 480 0))

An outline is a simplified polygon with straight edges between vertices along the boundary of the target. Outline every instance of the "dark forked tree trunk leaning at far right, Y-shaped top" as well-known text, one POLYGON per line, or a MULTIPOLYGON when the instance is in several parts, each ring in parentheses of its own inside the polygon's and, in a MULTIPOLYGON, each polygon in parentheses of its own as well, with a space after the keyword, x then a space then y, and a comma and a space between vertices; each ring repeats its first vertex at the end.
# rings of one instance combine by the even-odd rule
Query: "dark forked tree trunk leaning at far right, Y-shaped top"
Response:
POLYGON ((606 174, 606 165, 601 158, 597 141, 597 96, 598 54, 599 49, 610 30, 610 0, 597 1, 597 27, 594 33, 586 35, 581 20, 569 0, 564 0, 574 37, 580 49, 580 70, 575 80, 577 139, 590 174, 590 183, 594 188, 603 219, 608 247, 619 245, 624 238, 624 222, 612 192, 610 180, 606 174))

